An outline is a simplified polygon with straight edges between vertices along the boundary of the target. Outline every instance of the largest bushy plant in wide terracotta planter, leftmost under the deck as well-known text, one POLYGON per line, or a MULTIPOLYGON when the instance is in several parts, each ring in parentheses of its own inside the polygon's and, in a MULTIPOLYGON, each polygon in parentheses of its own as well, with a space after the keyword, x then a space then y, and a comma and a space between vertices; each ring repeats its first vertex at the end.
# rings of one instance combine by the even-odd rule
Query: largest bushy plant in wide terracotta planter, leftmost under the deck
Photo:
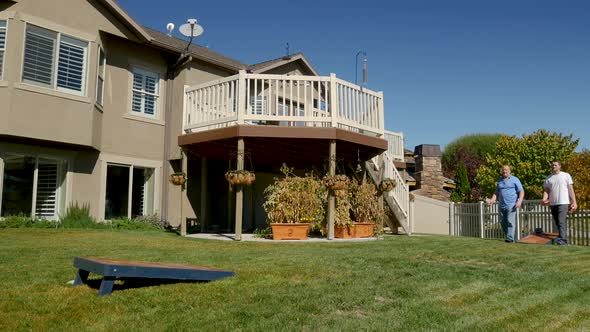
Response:
POLYGON ((320 181, 311 174, 295 176, 293 169, 283 164, 284 176, 264 190, 264 210, 270 222, 274 240, 304 240, 309 226, 324 219, 320 181))

